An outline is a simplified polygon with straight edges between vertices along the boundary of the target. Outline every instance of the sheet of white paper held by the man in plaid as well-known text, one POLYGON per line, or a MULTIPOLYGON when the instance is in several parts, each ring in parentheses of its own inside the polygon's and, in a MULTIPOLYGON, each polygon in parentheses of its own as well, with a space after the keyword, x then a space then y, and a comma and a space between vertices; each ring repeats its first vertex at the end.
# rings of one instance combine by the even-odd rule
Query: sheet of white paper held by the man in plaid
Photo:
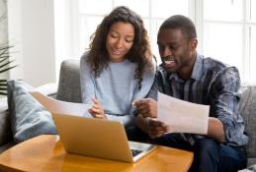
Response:
POLYGON ((168 132, 207 134, 209 105, 191 103, 160 92, 157 105, 157 118, 169 126, 168 132))

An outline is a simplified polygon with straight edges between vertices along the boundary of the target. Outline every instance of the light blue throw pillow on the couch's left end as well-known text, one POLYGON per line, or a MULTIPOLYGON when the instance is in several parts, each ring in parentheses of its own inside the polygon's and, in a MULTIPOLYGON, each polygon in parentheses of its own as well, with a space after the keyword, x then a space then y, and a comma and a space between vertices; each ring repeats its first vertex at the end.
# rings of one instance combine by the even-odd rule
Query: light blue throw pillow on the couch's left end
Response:
POLYGON ((21 81, 8 81, 8 106, 14 141, 17 143, 43 135, 56 134, 51 114, 29 93, 21 81))

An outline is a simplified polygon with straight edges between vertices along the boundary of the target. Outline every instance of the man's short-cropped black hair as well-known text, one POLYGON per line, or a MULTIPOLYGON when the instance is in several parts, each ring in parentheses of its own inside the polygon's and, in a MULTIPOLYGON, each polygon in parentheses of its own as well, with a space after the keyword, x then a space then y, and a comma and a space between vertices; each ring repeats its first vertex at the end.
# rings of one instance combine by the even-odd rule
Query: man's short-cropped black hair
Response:
POLYGON ((162 29, 181 29, 183 33, 187 35, 188 40, 197 38, 194 23, 189 18, 182 15, 175 15, 166 19, 161 25, 159 32, 162 29))

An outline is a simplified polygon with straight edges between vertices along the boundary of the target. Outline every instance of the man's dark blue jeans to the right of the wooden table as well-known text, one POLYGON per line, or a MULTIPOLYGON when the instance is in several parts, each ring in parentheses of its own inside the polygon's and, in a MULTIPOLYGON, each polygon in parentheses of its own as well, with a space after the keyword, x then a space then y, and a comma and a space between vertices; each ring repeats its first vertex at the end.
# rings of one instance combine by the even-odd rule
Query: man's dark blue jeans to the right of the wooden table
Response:
POLYGON ((236 172, 246 167, 246 154, 241 147, 199 139, 193 146, 194 161, 190 171, 236 172))

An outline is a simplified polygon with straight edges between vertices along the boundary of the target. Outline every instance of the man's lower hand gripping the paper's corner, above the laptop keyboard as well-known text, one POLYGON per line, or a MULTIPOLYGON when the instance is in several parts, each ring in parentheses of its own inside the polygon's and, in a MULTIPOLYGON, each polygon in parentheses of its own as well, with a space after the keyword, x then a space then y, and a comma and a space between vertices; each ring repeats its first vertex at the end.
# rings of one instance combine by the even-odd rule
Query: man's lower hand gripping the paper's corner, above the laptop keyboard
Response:
POLYGON ((161 137, 168 130, 168 127, 163 122, 158 121, 156 118, 144 118, 141 114, 136 117, 136 125, 152 139, 161 137))

